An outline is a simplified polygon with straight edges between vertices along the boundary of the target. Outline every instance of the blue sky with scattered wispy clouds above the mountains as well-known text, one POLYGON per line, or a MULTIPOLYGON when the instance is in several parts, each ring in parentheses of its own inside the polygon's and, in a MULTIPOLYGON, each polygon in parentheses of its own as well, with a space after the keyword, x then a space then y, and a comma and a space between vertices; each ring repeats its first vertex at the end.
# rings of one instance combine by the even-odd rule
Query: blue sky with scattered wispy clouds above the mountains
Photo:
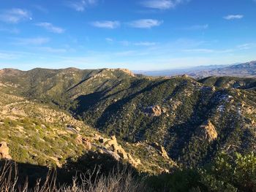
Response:
POLYGON ((256 0, 2 0, 0 69, 256 60, 256 0))

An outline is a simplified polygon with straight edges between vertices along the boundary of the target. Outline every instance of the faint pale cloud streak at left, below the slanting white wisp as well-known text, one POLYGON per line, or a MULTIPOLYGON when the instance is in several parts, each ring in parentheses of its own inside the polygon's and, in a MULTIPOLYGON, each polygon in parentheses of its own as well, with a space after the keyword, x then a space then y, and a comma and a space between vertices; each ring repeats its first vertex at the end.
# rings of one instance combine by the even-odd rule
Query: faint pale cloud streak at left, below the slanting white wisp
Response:
POLYGON ((43 45, 49 42, 49 38, 36 37, 36 38, 15 38, 13 45, 43 45))

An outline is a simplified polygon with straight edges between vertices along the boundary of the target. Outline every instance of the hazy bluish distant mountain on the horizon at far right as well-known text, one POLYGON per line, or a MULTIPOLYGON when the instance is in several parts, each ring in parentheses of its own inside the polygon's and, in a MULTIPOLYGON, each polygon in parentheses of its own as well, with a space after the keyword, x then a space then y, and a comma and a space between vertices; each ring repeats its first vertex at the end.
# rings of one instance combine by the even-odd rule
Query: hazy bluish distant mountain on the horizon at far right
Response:
POLYGON ((209 76, 256 77, 256 61, 225 66, 219 69, 201 70, 200 72, 191 72, 188 74, 196 78, 209 76))

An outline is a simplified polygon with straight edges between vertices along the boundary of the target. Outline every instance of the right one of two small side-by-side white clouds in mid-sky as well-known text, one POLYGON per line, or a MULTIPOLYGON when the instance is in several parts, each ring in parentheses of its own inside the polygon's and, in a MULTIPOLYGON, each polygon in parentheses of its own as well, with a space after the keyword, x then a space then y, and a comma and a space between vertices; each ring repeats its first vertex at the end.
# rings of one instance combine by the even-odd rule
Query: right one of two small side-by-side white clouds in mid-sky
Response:
POLYGON ((162 23, 162 20, 141 19, 133 20, 132 22, 129 22, 128 25, 132 28, 152 28, 154 26, 160 26, 162 23))

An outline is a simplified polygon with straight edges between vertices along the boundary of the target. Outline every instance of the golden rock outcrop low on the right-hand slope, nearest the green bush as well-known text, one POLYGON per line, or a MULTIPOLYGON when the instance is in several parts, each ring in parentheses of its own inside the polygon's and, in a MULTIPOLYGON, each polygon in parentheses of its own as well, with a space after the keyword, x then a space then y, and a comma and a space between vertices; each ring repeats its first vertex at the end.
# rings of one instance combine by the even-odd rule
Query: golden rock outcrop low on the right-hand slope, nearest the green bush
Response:
POLYGON ((208 142, 212 142, 218 137, 216 128, 214 127, 210 120, 208 120, 202 126, 199 126, 196 130, 196 133, 202 139, 208 140, 208 142))

